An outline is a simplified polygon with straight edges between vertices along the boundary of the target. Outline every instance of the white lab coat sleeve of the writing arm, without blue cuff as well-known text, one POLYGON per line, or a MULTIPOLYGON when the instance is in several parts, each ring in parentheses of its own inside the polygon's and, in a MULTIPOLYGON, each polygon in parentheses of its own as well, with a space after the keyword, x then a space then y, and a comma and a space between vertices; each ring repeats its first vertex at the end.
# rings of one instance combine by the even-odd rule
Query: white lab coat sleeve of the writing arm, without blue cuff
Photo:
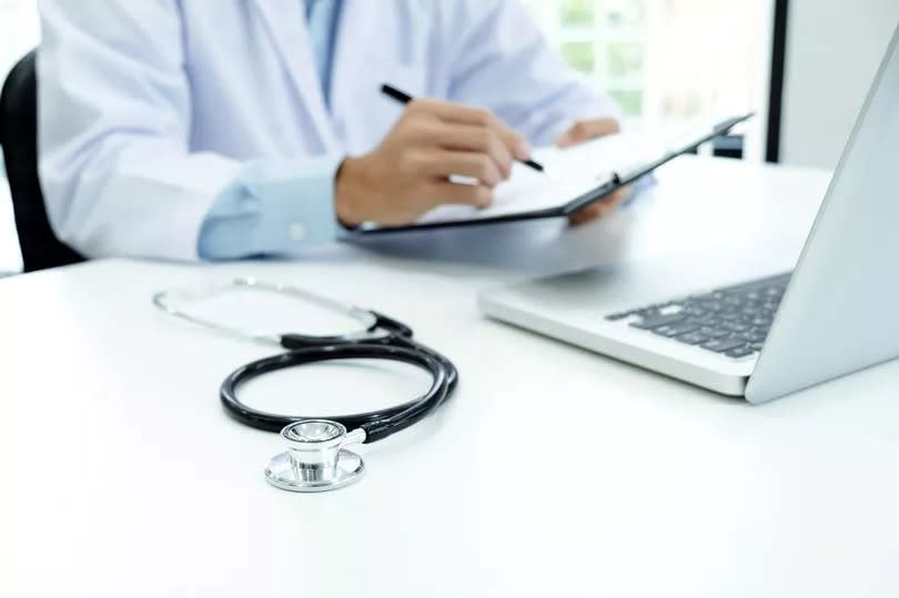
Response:
POLYGON ((175 2, 40 10, 39 165, 57 235, 88 257, 195 259, 200 223, 239 164, 188 151, 175 2))

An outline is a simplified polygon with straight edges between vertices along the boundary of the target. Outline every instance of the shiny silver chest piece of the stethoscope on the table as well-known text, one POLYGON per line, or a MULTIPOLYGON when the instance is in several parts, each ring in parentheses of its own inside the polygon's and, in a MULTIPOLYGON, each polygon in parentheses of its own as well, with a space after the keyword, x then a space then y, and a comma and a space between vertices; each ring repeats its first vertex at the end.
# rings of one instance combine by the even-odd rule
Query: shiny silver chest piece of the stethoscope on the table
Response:
POLYGON ((362 457, 344 448, 365 440, 365 432, 347 433, 337 422, 304 419, 281 430, 287 450, 265 468, 272 486, 294 493, 336 490, 357 482, 365 472, 362 457))

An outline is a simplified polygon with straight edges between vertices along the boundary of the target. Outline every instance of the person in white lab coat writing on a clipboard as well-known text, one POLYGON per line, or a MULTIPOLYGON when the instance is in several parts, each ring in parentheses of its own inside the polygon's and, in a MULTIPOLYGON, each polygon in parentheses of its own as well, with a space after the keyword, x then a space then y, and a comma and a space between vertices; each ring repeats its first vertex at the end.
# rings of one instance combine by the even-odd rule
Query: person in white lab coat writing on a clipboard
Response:
POLYGON ((345 225, 487 205, 531 144, 617 130, 516 0, 40 9, 41 182, 57 234, 90 257, 294 254, 345 225), (404 108, 382 82, 446 101, 404 108))

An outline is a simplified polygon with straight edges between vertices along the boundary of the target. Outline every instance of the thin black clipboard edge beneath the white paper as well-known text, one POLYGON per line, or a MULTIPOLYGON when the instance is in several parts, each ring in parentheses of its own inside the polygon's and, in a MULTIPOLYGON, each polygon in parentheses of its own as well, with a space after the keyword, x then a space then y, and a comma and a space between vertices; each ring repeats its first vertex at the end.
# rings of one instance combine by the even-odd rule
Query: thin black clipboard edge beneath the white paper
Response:
MULTIPOLYGON (((450 215, 447 217, 426 217, 413 224, 402 226, 378 226, 374 224, 363 224, 349 231, 349 236, 366 237, 407 231, 426 231, 433 229, 447 229, 459 226, 479 226, 487 224, 501 224, 507 222, 519 222, 526 220, 566 217, 583 207, 602 200, 614 193, 616 190, 627 186, 638 179, 653 173, 656 169, 664 166, 675 158, 695 152, 700 145, 716 138, 728 134, 736 125, 748 121, 755 113, 733 116, 715 124, 710 131, 691 136, 688 141, 681 142, 675 149, 666 149, 655 153, 653 158, 633 164, 629 168, 610 171, 596 184, 590 184, 589 189, 578 191, 574 196, 562 201, 558 204, 541 207, 536 210, 524 209, 522 211, 507 211, 497 215, 458 217, 450 215)), ((532 174, 531 176, 533 176, 532 174)), ((497 187, 499 189, 499 187, 497 187)), ((560 191, 564 193, 564 191, 560 191)), ((440 210, 440 209, 438 209, 440 210)), ((473 210, 473 209, 467 209, 473 210)))

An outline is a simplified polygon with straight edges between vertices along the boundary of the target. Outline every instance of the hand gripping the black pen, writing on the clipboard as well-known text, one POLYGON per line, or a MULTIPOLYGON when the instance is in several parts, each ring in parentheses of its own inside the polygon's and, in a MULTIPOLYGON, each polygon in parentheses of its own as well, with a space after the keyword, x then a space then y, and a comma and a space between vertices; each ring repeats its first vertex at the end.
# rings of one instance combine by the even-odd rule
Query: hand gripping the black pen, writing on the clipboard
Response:
POLYGON ((445 203, 489 205, 527 142, 492 113, 437 100, 413 100, 372 153, 337 171, 334 204, 346 225, 402 225, 445 203), (451 175, 477 184, 451 183, 451 175))

